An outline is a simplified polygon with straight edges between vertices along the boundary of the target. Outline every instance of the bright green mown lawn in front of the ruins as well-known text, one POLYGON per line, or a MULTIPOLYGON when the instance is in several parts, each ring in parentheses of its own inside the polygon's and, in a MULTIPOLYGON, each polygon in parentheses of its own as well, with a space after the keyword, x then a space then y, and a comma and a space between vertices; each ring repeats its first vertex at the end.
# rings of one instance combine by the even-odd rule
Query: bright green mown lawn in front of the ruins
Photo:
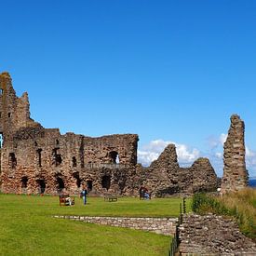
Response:
POLYGON ((104 202, 88 197, 84 206, 76 197, 73 207, 60 207, 57 196, 0 194, 0 255, 167 255, 168 236, 52 216, 172 217, 179 215, 181 202, 131 197, 104 202))

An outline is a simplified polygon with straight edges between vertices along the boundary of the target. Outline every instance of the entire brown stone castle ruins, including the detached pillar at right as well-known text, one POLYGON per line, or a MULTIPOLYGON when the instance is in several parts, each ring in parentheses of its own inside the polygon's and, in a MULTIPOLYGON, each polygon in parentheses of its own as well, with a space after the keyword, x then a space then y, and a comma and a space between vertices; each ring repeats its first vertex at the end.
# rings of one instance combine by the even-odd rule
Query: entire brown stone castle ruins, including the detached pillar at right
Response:
MULTIPOLYGON (((232 122, 239 132, 231 128, 225 143, 223 190, 236 190, 236 184, 242 187, 248 179, 241 138, 244 127, 237 116, 232 122)), ((0 134, 3 193, 56 195, 65 189, 77 194, 86 184, 94 195, 138 195, 139 188, 146 186, 161 196, 215 191, 218 186, 207 158, 197 159, 191 168, 180 168, 174 144, 143 168, 137 164, 136 134, 90 138, 43 128, 30 118, 28 94, 16 96, 8 73, 0 74, 0 134)))

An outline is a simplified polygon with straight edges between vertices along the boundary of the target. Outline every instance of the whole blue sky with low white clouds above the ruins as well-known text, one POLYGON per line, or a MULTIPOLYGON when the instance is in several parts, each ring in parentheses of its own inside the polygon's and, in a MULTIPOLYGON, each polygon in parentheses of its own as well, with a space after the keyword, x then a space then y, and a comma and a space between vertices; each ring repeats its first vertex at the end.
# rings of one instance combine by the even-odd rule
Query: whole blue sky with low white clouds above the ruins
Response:
POLYGON ((256 176, 256 2, 2 1, 0 71, 46 128, 137 133, 147 164, 173 141, 181 164, 222 175, 229 117, 246 123, 256 176))

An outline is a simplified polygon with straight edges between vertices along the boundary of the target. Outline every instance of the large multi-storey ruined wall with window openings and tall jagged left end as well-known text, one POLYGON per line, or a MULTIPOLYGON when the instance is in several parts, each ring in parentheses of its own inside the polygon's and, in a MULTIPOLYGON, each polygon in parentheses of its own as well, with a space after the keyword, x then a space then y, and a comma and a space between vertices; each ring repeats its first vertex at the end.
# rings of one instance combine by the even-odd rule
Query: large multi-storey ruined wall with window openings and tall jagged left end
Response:
POLYGON ((30 118, 28 94, 16 96, 9 74, 0 74, 0 89, 2 192, 78 194, 87 184, 99 195, 133 193, 128 177, 135 173, 138 135, 61 135, 30 118))

